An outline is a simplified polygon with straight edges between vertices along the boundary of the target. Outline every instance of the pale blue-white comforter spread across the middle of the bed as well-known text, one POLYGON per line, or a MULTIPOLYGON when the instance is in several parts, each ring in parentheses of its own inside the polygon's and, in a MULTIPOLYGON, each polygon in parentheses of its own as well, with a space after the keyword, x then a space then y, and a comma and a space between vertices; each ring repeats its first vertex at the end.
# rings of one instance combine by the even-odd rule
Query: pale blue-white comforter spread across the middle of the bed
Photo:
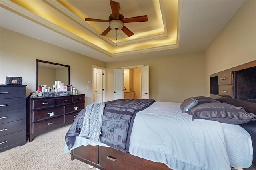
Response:
POLYGON ((180 111, 179 103, 153 103, 137 113, 133 129, 132 155, 162 162, 175 170, 230 170, 222 125, 217 121, 192 121, 191 115, 180 111))

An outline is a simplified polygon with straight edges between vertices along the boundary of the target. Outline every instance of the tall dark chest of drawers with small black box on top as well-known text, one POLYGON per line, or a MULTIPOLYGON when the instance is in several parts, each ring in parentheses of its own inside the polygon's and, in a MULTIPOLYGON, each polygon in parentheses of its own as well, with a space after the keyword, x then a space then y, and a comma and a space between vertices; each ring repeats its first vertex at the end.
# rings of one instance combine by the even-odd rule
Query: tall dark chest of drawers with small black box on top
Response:
POLYGON ((26 85, 0 85, 0 152, 26 144, 26 85))

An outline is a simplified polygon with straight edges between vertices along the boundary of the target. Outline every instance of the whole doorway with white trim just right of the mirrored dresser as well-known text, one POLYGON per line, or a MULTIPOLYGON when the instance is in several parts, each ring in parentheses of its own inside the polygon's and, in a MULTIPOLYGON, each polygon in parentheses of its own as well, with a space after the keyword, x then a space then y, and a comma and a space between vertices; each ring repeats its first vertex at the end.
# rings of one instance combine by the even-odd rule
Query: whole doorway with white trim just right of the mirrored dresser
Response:
POLYGON ((92 65, 92 103, 104 102, 106 98, 106 68, 92 65))

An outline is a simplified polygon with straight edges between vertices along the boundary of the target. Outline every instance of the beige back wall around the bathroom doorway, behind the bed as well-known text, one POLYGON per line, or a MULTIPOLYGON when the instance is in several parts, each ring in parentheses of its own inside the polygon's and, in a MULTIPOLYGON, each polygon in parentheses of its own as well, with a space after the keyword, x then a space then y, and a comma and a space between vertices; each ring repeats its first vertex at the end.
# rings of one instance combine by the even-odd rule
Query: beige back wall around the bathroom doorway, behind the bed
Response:
POLYGON ((113 71, 125 66, 149 65, 149 98, 182 102, 206 95, 204 52, 107 63, 107 100, 113 99, 113 71))

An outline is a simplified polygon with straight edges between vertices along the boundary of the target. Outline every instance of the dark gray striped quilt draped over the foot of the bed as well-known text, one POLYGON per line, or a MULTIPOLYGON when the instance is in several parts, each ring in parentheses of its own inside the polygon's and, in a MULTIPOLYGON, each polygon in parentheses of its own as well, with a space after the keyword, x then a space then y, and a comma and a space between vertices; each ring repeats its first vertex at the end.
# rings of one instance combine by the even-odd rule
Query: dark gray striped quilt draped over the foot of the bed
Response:
MULTIPOLYGON (((100 142, 128 152, 130 145, 130 134, 136 113, 152 105, 153 99, 118 99, 105 102, 102 116, 102 128, 100 142)), ((65 136, 68 148, 72 148, 76 136, 79 136, 85 116, 86 109, 80 111, 65 136)))

